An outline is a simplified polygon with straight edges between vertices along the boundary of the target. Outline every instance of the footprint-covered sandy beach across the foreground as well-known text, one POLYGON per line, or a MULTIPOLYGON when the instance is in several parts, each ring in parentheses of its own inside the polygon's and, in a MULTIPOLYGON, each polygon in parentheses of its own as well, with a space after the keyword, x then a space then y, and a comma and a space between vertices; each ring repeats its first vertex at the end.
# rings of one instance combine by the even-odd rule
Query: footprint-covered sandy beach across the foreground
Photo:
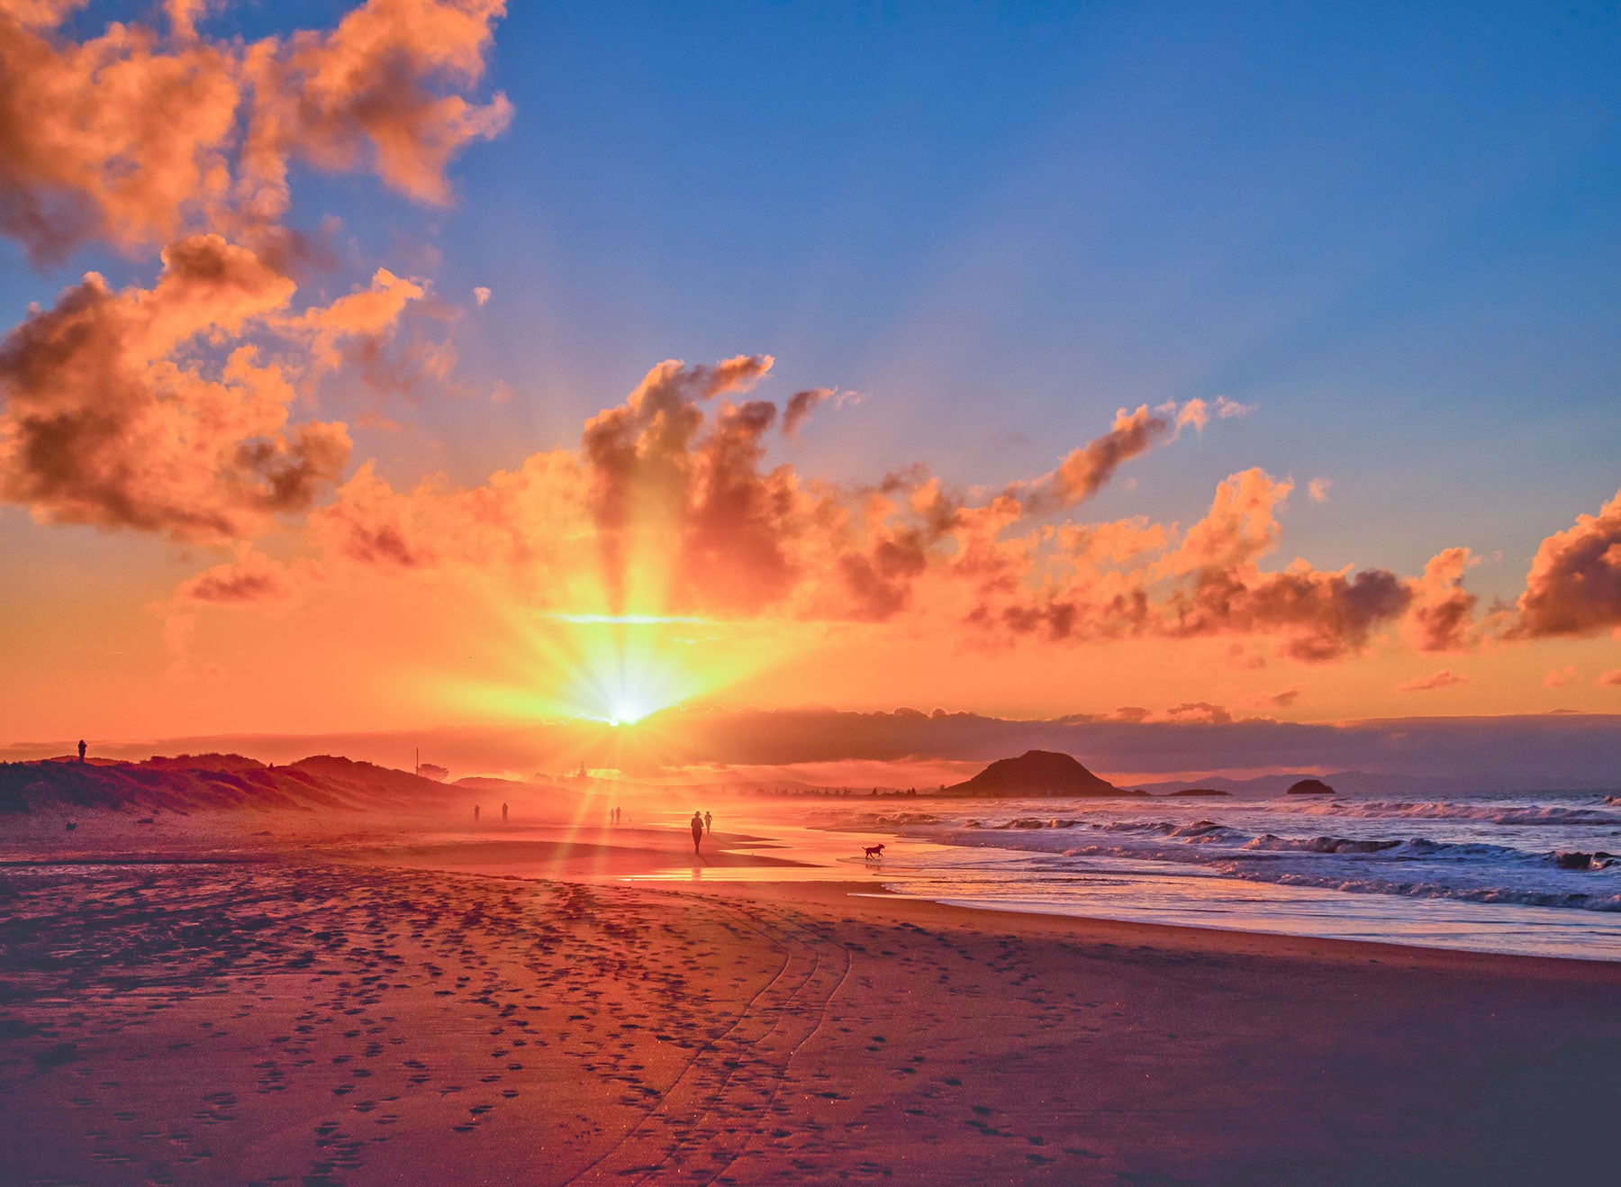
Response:
POLYGON ((1618 1164, 1618 965, 622 885, 682 838, 569 843, 0 871, 0 1182, 1618 1164))

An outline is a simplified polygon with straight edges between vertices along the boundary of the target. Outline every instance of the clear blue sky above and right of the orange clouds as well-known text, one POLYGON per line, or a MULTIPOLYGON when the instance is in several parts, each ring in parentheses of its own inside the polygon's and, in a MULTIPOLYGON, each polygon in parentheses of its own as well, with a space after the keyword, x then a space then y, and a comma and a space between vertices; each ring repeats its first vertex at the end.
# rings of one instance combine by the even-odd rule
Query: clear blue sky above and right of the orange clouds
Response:
POLYGON ((1188 517, 1261 464, 1336 482, 1292 524, 1324 564, 1529 555, 1615 491, 1618 34, 1613 6, 520 5, 517 117, 459 169, 438 279, 496 292, 465 358, 540 438, 739 350, 773 391, 869 394, 802 444, 848 474, 997 483, 1117 405, 1227 394, 1260 412, 1097 514, 1188 517))

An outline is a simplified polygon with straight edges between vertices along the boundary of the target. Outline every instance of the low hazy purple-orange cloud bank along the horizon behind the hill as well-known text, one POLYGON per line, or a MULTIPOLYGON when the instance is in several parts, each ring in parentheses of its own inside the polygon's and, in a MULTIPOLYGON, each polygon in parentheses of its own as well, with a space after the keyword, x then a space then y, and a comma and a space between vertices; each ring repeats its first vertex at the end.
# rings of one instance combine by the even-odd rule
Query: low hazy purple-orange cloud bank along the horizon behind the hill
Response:
MULTIPOLYGON (((235 752, 261 762, 345 754, 404 769, 420 749, 452 777, 554 778, 580 765, 609 777, 692 783, 917 785, 956 782, 1026 749, 1078 756, 1120 786, 1157 780, 1331 775, 1349 791, 1610 790, 1621 715, 1394 717, 1362 722, 1232 720, 1219 705, 1144 720, 1130 709, 1052 720, 968 712, 671 709, 660 743, 561 720, 425 731, 224 735, 97 743, 101 757, 235 752)), ((0 761, 42 759, 71 743, 0 744, 0 761)), ((1282 790, 1274 788, 1274 790, 1282 790)))

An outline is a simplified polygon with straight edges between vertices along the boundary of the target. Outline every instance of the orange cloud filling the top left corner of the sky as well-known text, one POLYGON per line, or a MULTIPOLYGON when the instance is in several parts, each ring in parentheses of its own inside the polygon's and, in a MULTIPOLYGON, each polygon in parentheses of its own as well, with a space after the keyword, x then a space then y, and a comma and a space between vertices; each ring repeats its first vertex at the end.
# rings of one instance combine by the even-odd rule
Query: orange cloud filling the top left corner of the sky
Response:
POLYGON ((251 44, 199 36, 196 0, 170 0, 169 36, 113 23, 73 41, 58 26, 76 6, 0 10, 0 230, 36 261, 203 229, 285 242, 295 161, 443 204, 451 159, 511 118, 504 96, 465 96, 504 0, 368 0, 336 29, 251 44))

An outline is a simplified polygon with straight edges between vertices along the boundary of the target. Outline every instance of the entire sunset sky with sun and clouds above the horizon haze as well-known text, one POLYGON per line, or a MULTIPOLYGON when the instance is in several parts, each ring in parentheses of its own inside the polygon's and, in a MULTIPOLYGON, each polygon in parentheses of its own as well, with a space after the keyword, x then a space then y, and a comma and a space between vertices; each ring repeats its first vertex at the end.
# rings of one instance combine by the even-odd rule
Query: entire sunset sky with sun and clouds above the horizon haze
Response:
POLYGON ((1621 713, 1618 60, 0 0, 0 746, 1621 713))

